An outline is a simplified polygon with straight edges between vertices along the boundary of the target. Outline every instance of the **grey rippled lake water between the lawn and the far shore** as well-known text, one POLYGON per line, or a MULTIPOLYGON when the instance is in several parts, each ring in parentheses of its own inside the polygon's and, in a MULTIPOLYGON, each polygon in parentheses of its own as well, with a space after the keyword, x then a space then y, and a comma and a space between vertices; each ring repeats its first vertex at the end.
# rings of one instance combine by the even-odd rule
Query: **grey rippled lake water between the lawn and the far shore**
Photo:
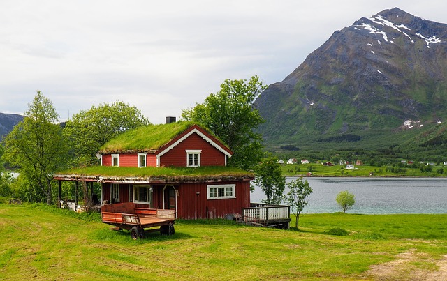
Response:
MULTIPOLYGON (((286 176, 286 183, 297 178, 286 176)), ((337 194, 349 190, 356 196, 352 213, 447 213, 447 179, 445 177, 402 176, 308 176, 305 179, 314 190, 309 195, 307 213, 335 213, 339 206, 337 194)), ((288 188, 284 190, 287 194, 288 188)), ((262 202, 265 195, 255 187, 251 202, 262 202)))

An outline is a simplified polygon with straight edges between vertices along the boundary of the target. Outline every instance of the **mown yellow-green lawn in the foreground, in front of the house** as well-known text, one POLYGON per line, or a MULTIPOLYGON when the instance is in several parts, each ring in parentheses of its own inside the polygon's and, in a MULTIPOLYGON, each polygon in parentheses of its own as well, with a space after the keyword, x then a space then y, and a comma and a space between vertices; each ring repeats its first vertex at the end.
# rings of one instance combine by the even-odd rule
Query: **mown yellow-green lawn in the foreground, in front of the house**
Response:
POLYGON ((0 280, 407 280, 446 261, 446 221, 312 214, 297 231, 181 220, 174 236, 133 241, 98 214, 0 204, 0 280), (331 235, 340 229, 349 235, 331 235))

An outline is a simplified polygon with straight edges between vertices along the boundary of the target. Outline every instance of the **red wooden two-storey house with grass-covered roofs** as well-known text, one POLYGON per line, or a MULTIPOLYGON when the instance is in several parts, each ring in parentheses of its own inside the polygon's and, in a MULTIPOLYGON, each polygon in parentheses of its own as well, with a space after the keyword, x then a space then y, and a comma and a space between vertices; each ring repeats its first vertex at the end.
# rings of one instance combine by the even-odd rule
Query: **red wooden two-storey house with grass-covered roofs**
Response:
POLYGON ((59 185, 100 182, 101 201, 111 204, 175 209, 177 218, 222 218, 250 206, 254 179, 249 172, 226 167, 231 155, 225 144, 197 124, 151 125, 105 144, 98 152, 102 167, 54 179, 59 185))

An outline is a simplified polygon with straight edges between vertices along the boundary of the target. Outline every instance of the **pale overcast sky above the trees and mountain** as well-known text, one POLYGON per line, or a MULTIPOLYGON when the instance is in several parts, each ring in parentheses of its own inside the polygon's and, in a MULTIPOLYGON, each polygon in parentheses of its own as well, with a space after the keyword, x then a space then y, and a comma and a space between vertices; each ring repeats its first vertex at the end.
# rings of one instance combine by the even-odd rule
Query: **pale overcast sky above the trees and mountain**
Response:
POLYGON ((0 112, 40 90, 61 121, 120 100, 163 123, 225 79, 280 82, 334 31, 395 7, 447 23, 441 0, 1 0, 0 112))

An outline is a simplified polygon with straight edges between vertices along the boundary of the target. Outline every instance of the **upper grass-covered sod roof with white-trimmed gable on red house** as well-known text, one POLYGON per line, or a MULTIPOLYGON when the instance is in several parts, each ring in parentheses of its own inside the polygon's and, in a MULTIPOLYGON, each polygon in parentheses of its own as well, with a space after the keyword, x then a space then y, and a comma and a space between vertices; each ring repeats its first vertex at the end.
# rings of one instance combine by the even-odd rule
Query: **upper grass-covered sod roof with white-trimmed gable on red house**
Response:
MULTIPOLYGON (((101 147, 100 152, 156 151, 194 124, 196 123, 179 121, 169 124, 149 125, 135 128, 123 132, 121 135, 111 139, 101 147)), ((200 128, 203 127, 200 126, 200 128)), ((213 137, 216 137, 206 128, 203 129, 213 137)))

